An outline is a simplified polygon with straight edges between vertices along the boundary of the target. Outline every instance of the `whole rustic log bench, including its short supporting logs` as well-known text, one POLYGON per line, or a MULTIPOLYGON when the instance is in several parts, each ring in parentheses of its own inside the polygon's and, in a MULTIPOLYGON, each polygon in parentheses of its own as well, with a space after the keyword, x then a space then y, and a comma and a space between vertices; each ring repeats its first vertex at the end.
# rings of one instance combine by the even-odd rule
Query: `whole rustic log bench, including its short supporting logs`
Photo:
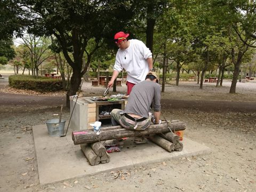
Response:
POLYGON ((181 151, 183 145, 180 142, 180 137, 177 134, 173 134, 170 129, 174 133, 175 131, 183 131, 186 129, 186 124, 175 120, 170 123, 170 126, 165 122, 159 125, 152 124, 142 131, 129 130, 122 126, 101 127, 100 134, 97 134, 92 129, 73 131, 72 139, 74 145, 81 145, 81 149, 89 163, 98 165, 110 161, 106 148, 100 142, 105 140, 147 136, 149 140, 169 152, 173 150, 181 151))

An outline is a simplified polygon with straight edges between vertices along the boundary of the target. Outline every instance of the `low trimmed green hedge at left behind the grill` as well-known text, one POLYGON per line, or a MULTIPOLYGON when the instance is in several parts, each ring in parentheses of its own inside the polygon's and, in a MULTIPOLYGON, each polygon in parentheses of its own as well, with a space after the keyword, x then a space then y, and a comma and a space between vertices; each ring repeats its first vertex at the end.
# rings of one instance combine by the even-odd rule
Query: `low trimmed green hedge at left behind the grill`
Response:
POLYGON ((16 89, 34 90, 39 92, 62 90, 62 81, 49 77, 34 78, 29 75, 9 76, 9 85, 16 89))

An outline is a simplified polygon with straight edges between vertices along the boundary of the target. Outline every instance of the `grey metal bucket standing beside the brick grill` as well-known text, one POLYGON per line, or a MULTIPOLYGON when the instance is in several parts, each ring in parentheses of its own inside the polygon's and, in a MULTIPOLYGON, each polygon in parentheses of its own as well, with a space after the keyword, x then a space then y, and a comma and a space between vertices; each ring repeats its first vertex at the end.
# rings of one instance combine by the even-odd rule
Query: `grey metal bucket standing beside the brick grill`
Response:
POLYGON ((48 129, 48 133, 51 137, 60 137, 64 135, 66 120, 61 119, 59 123, 59 119, 50 119, 46 121, 46 126, 48 129))

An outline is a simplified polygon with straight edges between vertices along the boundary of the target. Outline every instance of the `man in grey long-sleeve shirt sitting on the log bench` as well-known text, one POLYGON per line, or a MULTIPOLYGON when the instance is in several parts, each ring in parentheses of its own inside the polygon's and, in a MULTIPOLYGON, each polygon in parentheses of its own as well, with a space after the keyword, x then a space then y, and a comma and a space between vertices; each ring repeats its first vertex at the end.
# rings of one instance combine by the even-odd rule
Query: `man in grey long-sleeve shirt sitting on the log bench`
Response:
MULTIPOLYGON (((111 121, 113 125, 121 125, 126 129, 145 130, 154 118, 155 124, 160 124, 161 113, 161 87, 158 84, 159 75, 150 71, 145 81, 133 86, 128 103, 124 110, 113 109, 111 121), (150 106, 153 103, 154 117, 150 113, 150 106)), ((143 137, 134 138, 135 143, 145 143, 143 137)))

